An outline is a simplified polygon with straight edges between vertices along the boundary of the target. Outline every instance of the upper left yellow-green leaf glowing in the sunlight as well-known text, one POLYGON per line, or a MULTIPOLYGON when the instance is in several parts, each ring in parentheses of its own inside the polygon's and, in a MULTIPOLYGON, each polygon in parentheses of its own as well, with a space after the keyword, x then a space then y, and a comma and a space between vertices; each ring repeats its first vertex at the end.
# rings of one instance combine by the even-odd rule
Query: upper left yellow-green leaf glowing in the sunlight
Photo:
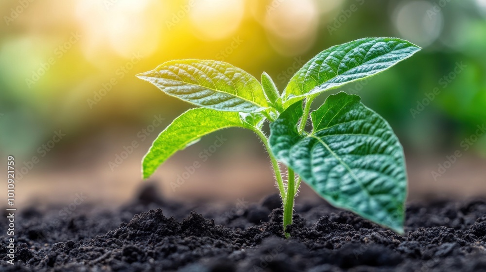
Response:
POLYGON ((225 62, 175 60, 137 76, 168 95, 206 108, 259 112, 269 106, 258 80, 225 62))

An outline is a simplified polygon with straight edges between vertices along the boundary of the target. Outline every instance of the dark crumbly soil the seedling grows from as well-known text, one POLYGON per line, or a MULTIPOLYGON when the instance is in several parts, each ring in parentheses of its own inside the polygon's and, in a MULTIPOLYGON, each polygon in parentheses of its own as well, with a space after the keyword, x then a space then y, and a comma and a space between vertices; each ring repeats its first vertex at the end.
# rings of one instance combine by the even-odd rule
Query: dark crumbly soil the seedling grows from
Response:
MULTIPOLYGON (((103 211, 80 205, 69 217, 23 209, 16 265, 2 271, 486 271, 486 202, 407 206, 400 236, 350 212, 297 204, 291 239, 278 196, 227 209, 169 203, 149 187, 135 203, 103 211), (193 210, 193 212, 192 212, 193 210)), ((297 200, 297 203, 299 201, 297 200)), ((6 220, 0 224, 7 229, 6 220)))

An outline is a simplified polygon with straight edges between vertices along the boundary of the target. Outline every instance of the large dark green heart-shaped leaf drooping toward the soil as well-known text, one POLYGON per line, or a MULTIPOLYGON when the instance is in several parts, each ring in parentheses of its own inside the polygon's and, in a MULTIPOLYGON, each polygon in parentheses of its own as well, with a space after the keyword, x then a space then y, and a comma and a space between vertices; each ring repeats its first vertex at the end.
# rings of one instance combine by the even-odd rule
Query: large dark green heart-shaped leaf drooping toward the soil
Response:
POLYGON ((321 197, 403 233, 407 176, 390 125, 357 95, 331 95, 312 112, 313 132, 299 135, 302 102, 270 124, 270 147, 321 197))

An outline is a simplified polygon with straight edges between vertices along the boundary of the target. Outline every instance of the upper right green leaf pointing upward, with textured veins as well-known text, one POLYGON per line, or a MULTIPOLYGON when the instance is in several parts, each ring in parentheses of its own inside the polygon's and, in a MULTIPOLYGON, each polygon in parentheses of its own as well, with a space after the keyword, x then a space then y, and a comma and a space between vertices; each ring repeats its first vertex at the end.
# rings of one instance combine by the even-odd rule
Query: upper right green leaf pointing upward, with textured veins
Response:
POLYGON ((398 38, 364 38, 333 46, 295 73, 283 94, 284 108, 307 96, 380 73, 419 50, 398 38))

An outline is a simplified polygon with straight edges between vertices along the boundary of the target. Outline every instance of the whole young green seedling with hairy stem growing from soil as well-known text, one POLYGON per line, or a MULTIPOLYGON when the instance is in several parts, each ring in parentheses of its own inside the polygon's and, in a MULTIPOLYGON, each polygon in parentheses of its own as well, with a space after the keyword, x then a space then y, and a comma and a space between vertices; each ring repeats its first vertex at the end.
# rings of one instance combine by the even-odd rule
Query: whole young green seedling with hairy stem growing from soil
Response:
POLYGON ((175 60, 137 75, 170 96, 200 106, 177 117, 142 162, 148 178, 176 151, 227 127, 254 131, 265 146, 283 203, 283 229, 304 181, 330 204, 403 233, 407 194, 405 158, 397 136, 357 95, 319 94, 365 79, 420 48, 398 38, 364 38, 333 46, 307 62, 280 94, 266 73, 261 84, 240 68, 213 60, 175 60), (308 119, 312 129, 306 131, 308 119), (262 131, 270 122, 270 136, 262 131), (287 167, 284 181, 279 162, 287 167))

